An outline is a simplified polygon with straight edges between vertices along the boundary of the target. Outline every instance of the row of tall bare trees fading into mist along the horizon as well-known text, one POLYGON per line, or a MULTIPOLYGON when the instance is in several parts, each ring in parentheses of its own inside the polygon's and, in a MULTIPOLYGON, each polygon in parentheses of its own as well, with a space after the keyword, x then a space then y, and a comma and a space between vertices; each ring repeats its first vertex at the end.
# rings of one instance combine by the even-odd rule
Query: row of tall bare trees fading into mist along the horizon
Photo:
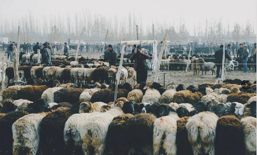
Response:
MULTIPOLYGON (((136 26, 139 25, 139 38, 152 39, 152 25, 142 20, 142 15, 129 12, 126 16, 114 15, 105 17, 100 14, 92 14, 89 10, 83 10, 75 14, 54 14, 44 17, 45 20, 33 16, 32 12, 15 19, 5 19, 0 23, 0 37, 8 37, 11 40, 17 38, 17 27, 21 28, 21 40, 27 42, 35 41, 67 41, 68 38, 78 40, 83 27, 86 31, 82 40, 100 41, 105 38, 106 30, 109 29, 108 40, 131 40, 135 39, 136 26)), ((193 24, 190 33, 185 26, 185 19, 173 23, 166 21, 153 21, 155 24, 155 36, 163 38, 164 29, 169 29, 170 40, 187 39, 190 36, 198 38, 232 38, 240 35, 255 35, 255 25, 249 17, 244 24, 223 24, 223 19, 206 19, 205 27, 200 22, 193 24)))

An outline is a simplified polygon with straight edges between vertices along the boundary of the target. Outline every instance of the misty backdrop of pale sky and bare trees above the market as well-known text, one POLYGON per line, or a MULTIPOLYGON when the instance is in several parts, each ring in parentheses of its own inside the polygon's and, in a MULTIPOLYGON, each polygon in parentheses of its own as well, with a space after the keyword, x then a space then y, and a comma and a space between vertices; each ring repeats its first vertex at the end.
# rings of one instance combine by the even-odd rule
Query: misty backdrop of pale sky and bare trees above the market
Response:
POLYGON ((82 40, 99 43, 152 40, 152 24, 156 39, 169 29, 172 43, 191 40, 213 42, 256 41, 256 0, 216 1, 63 1, 1 0, 0 37, 21 42, 67 42, 82 40))

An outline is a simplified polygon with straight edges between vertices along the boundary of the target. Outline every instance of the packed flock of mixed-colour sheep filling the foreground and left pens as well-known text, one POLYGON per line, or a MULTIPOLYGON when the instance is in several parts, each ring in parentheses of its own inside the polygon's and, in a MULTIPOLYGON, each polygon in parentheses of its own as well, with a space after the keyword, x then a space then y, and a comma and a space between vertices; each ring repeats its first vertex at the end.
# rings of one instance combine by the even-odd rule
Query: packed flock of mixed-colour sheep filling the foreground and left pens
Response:
POLYGON ((117 67, 62 57, 6 69, 0 154, 256 154, 256 81, 131 85, 128 66, 114 104, 117 67))

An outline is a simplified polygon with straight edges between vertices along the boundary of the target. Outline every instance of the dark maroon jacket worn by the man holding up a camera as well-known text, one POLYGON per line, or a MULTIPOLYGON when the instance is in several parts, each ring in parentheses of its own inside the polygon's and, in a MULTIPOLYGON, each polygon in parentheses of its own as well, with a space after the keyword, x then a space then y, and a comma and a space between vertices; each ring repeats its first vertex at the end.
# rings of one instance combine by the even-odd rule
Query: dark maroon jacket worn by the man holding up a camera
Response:
MULTIPOLYGON (((132 51, 133 52, 133 51, 132 51)), ((141 55, 137 55, 133 52, 133 54, 130 56, 130 60, 134 60, 134 70, 138 71, 140 69, 144 69, 143 62, 146 59, 149 59, 150 56, 147 53, 142 52, 141 55), (139 56, 139 57, 137 57, 139 56)))

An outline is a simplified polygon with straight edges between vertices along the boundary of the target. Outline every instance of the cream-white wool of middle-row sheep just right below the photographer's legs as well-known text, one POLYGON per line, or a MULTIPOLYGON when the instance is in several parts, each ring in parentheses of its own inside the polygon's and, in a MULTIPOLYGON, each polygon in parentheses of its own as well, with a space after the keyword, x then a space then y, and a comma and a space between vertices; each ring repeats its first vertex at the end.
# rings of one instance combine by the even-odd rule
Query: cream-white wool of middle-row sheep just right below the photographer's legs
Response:
POLYGON ((161 94, 156 89, 147 89, 145 95, 143 96, 143 103, 154 104, 155 102, 159 102, 159 98, 161 94))

